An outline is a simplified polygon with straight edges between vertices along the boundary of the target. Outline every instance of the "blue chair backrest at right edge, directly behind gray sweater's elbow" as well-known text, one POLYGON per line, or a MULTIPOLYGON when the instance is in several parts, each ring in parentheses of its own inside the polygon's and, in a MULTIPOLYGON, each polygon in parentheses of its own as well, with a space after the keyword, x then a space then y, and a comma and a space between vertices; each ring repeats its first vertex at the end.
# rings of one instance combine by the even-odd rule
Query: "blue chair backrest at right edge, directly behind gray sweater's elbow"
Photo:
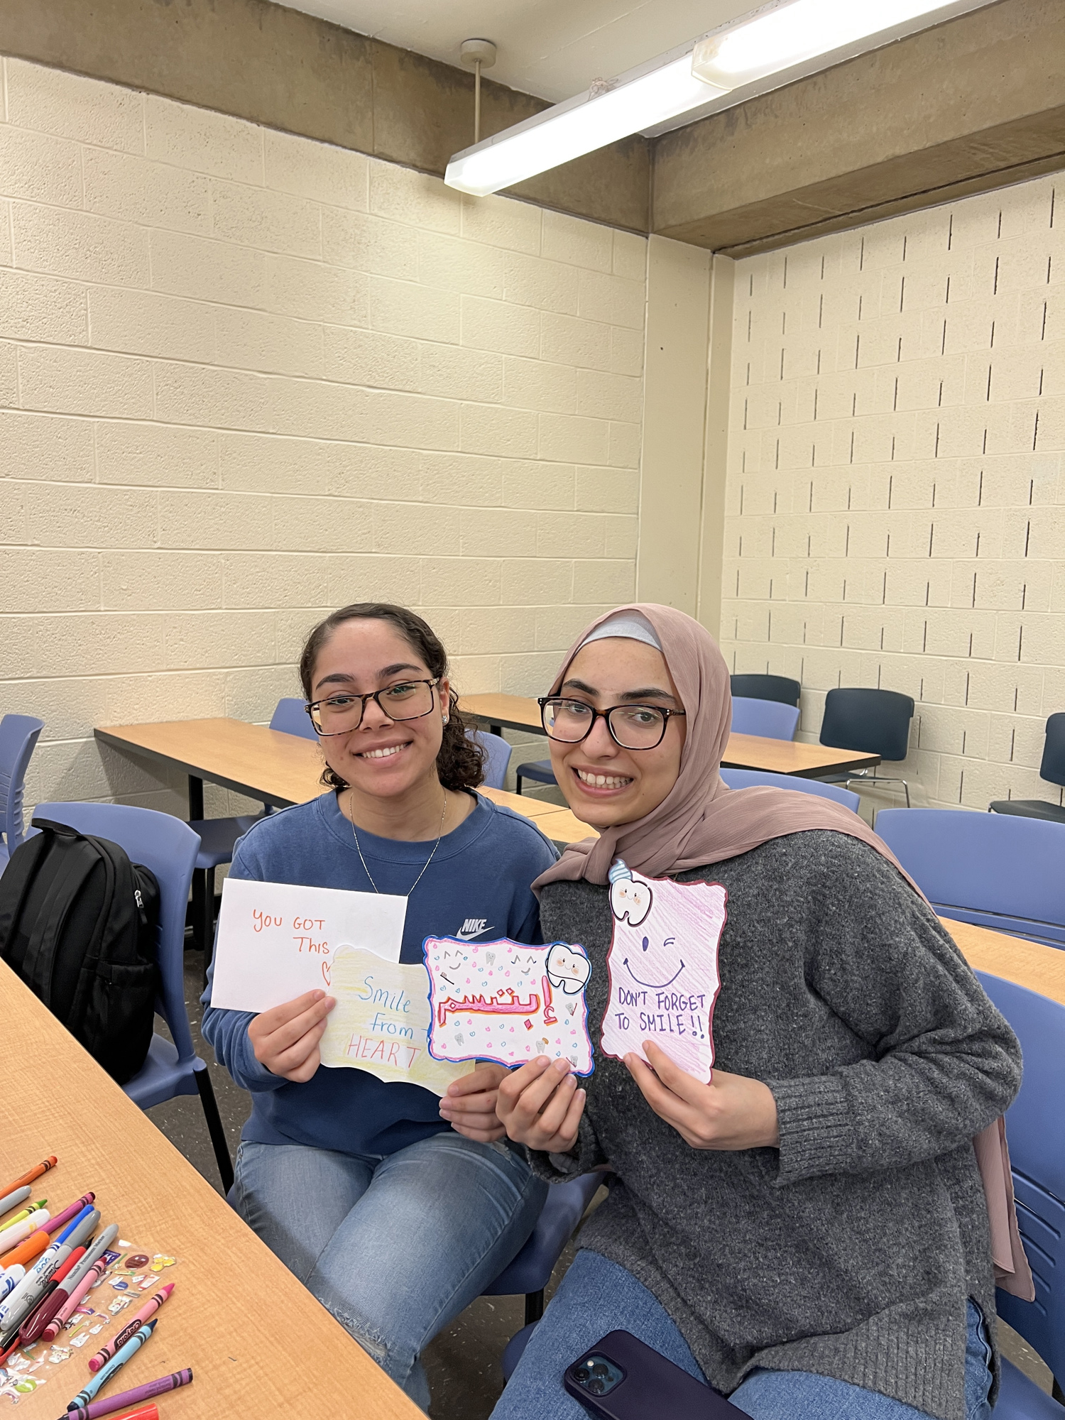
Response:
MULTIPOLYGON (((990 815, 994 816, 994 815, 990 815)), ((1024 1079, 1005 1115, 1017 1223, 1032 1269, 1035 1301, 1000 1291, 997 1312, 1065 1383, 1065 1005, 977 971, 1012 1025, 1024 1052, 1024 1079)))

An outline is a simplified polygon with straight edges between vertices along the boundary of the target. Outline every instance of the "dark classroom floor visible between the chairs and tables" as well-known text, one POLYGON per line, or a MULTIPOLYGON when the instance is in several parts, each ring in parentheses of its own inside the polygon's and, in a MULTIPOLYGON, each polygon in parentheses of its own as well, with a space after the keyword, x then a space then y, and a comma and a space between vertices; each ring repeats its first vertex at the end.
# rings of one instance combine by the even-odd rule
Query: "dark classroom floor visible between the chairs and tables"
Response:
MULTIPOLYGON (((192 1035, 199 1055, 207 1061, 219 1113, 226 1127, 230 1152, 236 1154, 240 1130, 248 1116, 250 1102, 220 1065, 214 1052, 200 1038, 200 990, 203 954, 185 954, 185 1000, 189 1008, 192 1035)), ((165 1034, 162 1021, 156 1028, 165 1034)), ((214 1152, 203 1122, 199 1098, 185 1096, 148 1110, 166 1137, 185 1154, 189 1163, 222 1193, 214 1152)), ((555 1267, 548 1298, 572 1261, 572 1247, 567 1248, 555 1267)), ((521 1296, 481 1296, 440 1332, 426 1349, 423 1360, 433 1392, 430 1420, 487 1420, 503 1390, 500 1356, 515 1331, 524 1322, 521 1296)), ((1025 1375, 1049 1394, 1052 1377, 1035 1352, 1008 1326, 1000 1323, 1003 1350, 1025 1375)))

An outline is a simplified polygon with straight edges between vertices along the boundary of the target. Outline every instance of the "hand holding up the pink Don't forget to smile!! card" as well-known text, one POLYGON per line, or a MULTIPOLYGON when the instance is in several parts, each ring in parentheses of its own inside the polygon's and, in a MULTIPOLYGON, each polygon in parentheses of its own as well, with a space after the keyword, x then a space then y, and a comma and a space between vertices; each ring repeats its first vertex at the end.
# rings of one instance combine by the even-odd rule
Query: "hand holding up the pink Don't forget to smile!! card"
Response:
MULTIPOLYGON (((655 1113, 693 1149, 777 1149, 777 1100, 768 1085, 716 1069, 709 1085, 680 1069, 653 1041, 643 1042, 653 1069, 626 1055, 625 1065, 655 1113)), ((454 1086, 452 1086, 454 1088, 454 1086)))

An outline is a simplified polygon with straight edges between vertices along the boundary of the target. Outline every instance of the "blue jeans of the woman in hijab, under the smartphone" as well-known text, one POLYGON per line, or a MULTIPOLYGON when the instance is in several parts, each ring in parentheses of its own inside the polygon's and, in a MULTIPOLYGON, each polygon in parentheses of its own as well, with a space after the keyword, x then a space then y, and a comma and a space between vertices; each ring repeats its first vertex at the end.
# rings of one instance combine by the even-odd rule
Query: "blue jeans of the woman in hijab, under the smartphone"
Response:
MULTIPOLYGON (((706 1380, 660 1302, 632 1272, 598 1252, 578 1252, 532 1332, 491 1420, 588 1420, 562 1389, 562 1372, 611 1331, 628 1331, 689 1376, 706 1380)), ((990 1420, 991 1348, 968 1304, 966 1420, 990 1420)), ((728 1397, 754 1420, 929 1420, 922 1410, 807 1370, 754 1370, 728 1397)))

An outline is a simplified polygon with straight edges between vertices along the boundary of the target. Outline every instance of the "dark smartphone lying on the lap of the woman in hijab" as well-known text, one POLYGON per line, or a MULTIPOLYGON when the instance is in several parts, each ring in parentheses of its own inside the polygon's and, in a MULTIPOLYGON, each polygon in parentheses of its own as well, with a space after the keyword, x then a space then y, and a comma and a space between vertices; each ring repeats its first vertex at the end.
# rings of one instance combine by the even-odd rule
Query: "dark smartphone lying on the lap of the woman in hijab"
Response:
POLYGON ((609 1332, 568 1366, 567 1392, 602 1420, 737 1420, 746 1411, 659 1356, 630 1332, 609 1332))

